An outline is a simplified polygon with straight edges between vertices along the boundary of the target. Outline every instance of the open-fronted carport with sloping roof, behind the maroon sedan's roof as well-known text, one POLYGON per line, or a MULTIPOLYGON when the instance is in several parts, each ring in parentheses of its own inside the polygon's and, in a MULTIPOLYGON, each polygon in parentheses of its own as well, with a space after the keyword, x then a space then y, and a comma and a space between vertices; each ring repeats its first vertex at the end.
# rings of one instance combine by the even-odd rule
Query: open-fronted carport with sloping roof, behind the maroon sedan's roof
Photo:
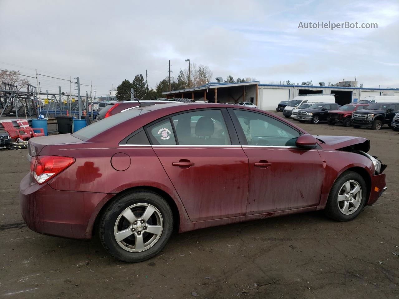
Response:
POLYGON ((194 101, 207 100, 215 103, 258 102, 259 81, 242 83, 211 82, 199 87, 162 92, 166 98, 189 98, 194 101))

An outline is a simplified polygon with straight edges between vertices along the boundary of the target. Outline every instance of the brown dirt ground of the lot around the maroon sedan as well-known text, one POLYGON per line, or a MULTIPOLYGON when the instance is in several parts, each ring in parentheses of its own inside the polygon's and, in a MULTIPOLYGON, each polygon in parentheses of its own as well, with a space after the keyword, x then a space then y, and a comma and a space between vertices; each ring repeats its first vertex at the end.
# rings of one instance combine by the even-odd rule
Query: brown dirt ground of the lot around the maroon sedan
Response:
POLYGON ((399 133, 295 123, 370 139, 388 165, 379 201, 347 223, 310 212, 175 234, 138 264, 97 238, 32 232, 18 202, 27 150, 0 151, 0 298, 399 298, 399 133))

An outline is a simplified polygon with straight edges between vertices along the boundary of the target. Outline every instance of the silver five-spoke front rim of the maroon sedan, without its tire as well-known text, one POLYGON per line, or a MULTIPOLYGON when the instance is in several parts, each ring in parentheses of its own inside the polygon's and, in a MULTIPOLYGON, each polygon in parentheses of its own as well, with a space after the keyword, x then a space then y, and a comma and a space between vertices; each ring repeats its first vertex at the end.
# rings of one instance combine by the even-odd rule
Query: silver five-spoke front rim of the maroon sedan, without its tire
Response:
POLYGON ((337 203, 342 214, 354 213, 361 204, 361 187, 356 181, 347 181, 338 192, 337 203))

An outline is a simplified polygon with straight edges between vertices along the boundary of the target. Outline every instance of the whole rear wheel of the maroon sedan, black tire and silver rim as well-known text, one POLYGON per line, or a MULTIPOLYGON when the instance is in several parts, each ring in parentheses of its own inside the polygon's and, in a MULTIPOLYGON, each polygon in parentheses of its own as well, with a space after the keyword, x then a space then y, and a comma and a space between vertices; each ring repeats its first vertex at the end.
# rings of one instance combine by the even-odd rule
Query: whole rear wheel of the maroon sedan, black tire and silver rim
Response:
POLYGON ((114 258, 129 263, 142 262, 158 254, 168 242, 173 214, 157 193, 128 191, 113 199, 101 215, 98 228, 101 243, 114 258))

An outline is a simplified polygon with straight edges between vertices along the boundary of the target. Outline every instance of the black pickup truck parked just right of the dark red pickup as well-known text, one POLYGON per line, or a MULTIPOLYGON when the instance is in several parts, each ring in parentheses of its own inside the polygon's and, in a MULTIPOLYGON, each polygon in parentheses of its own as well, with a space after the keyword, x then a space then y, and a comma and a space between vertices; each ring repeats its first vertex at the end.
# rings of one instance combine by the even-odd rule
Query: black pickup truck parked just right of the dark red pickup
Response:
POLYGON ((399 103, 373 103, 367 108, 352 113, 354 128, 368 127, 379 130, 384 124, 391 126, 395 113, 399 112, 399 103))

